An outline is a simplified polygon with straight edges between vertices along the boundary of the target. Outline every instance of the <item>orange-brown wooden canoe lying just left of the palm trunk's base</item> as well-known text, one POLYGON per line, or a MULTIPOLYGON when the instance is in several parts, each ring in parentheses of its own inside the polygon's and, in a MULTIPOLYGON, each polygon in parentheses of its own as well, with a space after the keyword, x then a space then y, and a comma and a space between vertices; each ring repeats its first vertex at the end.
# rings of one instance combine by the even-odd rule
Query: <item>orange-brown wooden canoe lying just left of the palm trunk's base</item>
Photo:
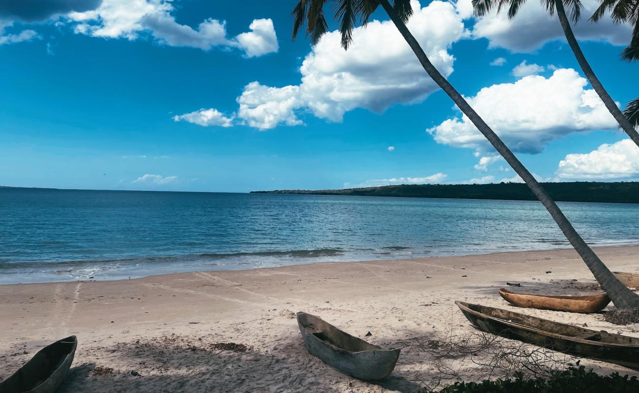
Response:
POLYGON ((499 289, 499 295, 509 303, 519 307, 532 309, 546 309, 569 312, 597 312, 603 310, 610 298, 605 293, 589 296, 551 296, 532 295, 530 293, 515 293, 508 289, 499 289))

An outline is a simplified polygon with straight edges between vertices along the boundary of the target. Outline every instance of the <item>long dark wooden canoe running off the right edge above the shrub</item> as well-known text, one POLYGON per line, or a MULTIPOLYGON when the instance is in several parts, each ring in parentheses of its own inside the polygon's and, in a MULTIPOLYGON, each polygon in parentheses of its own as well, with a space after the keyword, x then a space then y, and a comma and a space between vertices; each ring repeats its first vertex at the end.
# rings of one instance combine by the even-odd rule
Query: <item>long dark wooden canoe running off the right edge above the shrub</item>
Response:
POLYGON ((639 337, 597 332, 479 304, 455 304, 473 325, 485 332, 578 357, 639 368, 639 337))

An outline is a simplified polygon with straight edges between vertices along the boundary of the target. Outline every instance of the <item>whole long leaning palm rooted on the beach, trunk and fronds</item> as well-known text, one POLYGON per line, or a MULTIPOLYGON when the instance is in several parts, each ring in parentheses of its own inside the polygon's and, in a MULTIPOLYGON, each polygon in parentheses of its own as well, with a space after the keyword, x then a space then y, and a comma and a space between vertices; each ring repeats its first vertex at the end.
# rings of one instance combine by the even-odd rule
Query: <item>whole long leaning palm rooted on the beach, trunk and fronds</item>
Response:
MULTIPOLYGON (((311 37, 311 42, 316 44, 319 38, 328 31, 328 25, 324 17, 323 7, 328 0, 299 0, 297 6, 293 10, 293 39, 299 33, 301 27, 307 22, 306 33, 311 37)), ((555 201, 551 199, 541 184, 530 174, 520 160, 512 153, 511 150, 502 142, 502 140, 491 130, 490 127, 479 117, 468 102, 458 93, 458 91, 443 77, 443 75, 433 66, 433 63, 427 58, 426 53, 420 47, 415 37, 406 27, 406 21, 412 15, 410 0, 395 0, 391 6, 389 0, 334 0, 335 19, 339 22, 339 31, 342 35, 342 46, 348 49, 353 36, 352 31, 358 20, 366 26, 371 13, 381 5, 385 12, 389 15, 395 24, 399 33, 404 37, 410 48, 417 55, 417 59, 424 67, 424 70, 435 81, 440 88, 457 104, 459 109, 468 116, 473 125, 488 139, 504 157, 506 162, 514 169, 514 171, 525 181, 530 187, 533 194, 546 207, 551 217, 557 222, 568 241, 573 245, 574 249, 580 254, 581 259, 590 269, 595 279, 601 284, 601 288, 608 293, 613 304, 620 311, 637 311, 639 310, 639 295, 626 288, 615 276, 608 270, 606 265, 601 262, 592 249, 583 241, 581 236, 574 230, 572 224, 566 219, 566 216, 559 209, 555 201)), ((389 70, 394 72, 394 70, 389 70)))

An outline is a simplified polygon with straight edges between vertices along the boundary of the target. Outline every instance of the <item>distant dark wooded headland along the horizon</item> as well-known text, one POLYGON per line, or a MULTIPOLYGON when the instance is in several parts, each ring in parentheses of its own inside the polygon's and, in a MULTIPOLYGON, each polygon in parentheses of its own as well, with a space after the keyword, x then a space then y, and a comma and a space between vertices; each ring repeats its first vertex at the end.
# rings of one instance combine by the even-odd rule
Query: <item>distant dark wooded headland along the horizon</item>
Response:
MULTIPOLYGON (((572 181, 542 185, 557 202, 639 203, 639 181, 572 181)), ((403 184, 360 189, 271 190, 251 193, 537 201, 537 197, 524 183, 403 184)))

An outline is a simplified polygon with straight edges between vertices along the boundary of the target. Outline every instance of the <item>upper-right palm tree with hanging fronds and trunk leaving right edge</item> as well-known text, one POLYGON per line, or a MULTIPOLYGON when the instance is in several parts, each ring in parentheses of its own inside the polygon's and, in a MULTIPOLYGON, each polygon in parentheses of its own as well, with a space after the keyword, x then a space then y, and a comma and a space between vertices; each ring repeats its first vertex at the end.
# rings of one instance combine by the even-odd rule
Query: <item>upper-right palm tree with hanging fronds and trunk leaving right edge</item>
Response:
MULTIPOLYGON (((515 15, 517 15, 517 12, 520 10, 525 1, 526 0, 473 0, 473 8, 475 9, 475 15, 484 16, 495 7, 497 7, 497 12, 500 12, 502 8, 508 6, 508 17, 509 19, 512 19, 515 15)), ((601 98, 601 101, 603 101, 603 104, 606 105, 606 108, 610 111, 610 114, 612 114, 615 120, 617 120, 617 123, 619 123, 622 130, 624 130, 630 139, 632 139, 639 147, 639 134, 637 134, 635 128, 630 124, 619 107, 617 107, 617 104, 615 104, 612 100, 608 91, 604 89, 603 84, 601 84, 597 75, 595 75, 592 68, 590 68, 586 57, 583 56, 583 52, 581 52, 579 42, 577 42, 577 39, 574 37, 573 29, 570 27, 570 21, 566 15, 566 8, 570 13, 571 19, 574 22, 577 22, 581 15, 581 1, 542 0, 541 2, 546 5, 546 10, 548 10, 548 13, 550 13, 551 16, 555 13, 555 9, 557 10, 557 16, 559 17, 562 29, 564 29, 564 35, 566 35, 568 45, 570 45, 570 48, 573 50, 574 57, 577 59, 577 63, 579 63, 581 70, 586 75, 586 78, 592 85, 592 88, 595 89, 597 95, 599 95, 599 98, 601 98), (564 3, 566 8, 564 8, 564 3)))

